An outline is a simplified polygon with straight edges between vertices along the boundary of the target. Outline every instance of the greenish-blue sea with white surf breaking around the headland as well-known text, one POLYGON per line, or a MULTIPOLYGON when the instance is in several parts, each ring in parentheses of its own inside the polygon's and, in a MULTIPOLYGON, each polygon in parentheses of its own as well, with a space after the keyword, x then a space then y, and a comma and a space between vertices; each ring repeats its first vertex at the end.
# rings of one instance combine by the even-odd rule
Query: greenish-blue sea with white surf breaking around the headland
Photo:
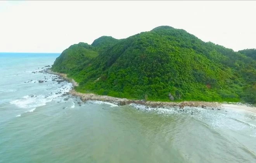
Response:
POLYGON ((59 55, 0 53, 0 163, 256 163, 255 114, 82 102, 59 55))

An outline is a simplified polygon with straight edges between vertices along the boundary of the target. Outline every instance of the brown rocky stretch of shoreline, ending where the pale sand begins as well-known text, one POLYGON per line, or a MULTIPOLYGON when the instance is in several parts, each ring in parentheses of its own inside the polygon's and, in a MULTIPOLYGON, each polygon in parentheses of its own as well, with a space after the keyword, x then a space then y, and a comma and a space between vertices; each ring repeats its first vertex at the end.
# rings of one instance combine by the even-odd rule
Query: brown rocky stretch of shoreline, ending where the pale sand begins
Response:
MULTIPOLYGON (((74 81, 72 78, 68 78, 64 73, 56 73, 47 68, 45 71, 46 73, 59 75, 64 80, 67 80, 73 84, 73 87, 78 86, 78 83, 74 81)), ((70 95, 78 96, 80 99, 85 102, 88 100, 99 100, 103 102, 110 102, 116 105, 128 105, 128 104, 139 104, 145 105, 146 107, 152 108, 170 108, 170 107, 179 107, 183 109, 184 107, 201 107, 204 109, 212 109, 212 110, 220 110, 221 104, 219 102, 202 102, 202 101, 183 101, 183 102, 154 102, 154 101, 145 101, 145 100, 130 100, 127 98, 117 98, 117 97, 110 97, 106 95, 95 95, 93 93, 80 93, 76 92, 76 90, 71 89, 69 91, 70 95)))

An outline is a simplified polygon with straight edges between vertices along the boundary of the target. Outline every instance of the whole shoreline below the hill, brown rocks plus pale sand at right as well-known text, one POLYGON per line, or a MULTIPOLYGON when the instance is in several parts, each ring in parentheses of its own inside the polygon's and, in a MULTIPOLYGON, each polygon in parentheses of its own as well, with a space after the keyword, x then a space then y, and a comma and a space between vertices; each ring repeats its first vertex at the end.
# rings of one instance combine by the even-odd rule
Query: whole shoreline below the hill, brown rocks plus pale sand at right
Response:
MULTIPOLYGON (((46 70, 47 73, 55 74, 61 76, 64 80, 69 81, 72 83, 73 87, 78 86, 79 84, 74 81, 72 78, 68 78, 64 73, 57 73, 51 71, 49 68, 46 70)), ((128 104, 139 104, 145 105, 147 107, 161 107, 161 108, 168 108, 168 107, 179 107, 183 109, 183 107, 201 107, 201 108, 208 108, 212 110, 223 110, 223 109, 233 109, 245 112, 251 112, 256 114, 256 108, 247 106, 247 105, 240 105, 237 103, 220 103, 220 102, 204 102, 204 101, 183 101, 183 102, 156 102, 156 101, 145 101, 145 100, 129 100, 127 98, 118 98, 118 97, 111 97, 107 95, 95 95, 93 93, 80 93, 76 92, 74 88, 69 90, 69 94, 73 96, 78 96, 80 99, 85 102, 87 100, 99 100, 103 102, 110 102, 112 104, 117 105, 128 105, 128 104)))

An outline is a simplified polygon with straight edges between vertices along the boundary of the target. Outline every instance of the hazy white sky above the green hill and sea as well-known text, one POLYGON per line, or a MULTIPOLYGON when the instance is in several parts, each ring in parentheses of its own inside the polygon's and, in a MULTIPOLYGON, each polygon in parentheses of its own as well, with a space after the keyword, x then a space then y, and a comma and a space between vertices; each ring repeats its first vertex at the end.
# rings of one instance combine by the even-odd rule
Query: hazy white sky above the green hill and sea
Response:
POLYGON ((256 1, 0 1, 0 52, 53 52, 160 25, 203 41, 256 48, 256 1))

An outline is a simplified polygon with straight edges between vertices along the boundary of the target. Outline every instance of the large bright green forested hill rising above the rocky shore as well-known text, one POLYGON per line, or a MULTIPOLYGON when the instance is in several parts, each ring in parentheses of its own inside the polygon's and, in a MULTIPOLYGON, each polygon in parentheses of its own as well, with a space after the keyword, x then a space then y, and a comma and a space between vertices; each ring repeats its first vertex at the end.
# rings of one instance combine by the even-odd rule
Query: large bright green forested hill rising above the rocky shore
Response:
POLYGON ((126 39, 102 36, 64 50, 53 71, 76 90, 131 99, 256 103, 254 54, 203 42, 183 29, 160 26, 126 39))

